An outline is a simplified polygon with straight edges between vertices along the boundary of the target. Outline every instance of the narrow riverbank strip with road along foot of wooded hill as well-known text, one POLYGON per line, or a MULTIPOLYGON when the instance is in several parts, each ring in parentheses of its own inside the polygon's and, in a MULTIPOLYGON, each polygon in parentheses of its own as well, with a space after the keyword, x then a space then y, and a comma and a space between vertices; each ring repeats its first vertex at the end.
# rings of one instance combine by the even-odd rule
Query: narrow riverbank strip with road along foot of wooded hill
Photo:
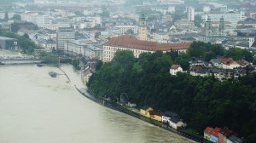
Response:
POLYGON ((89 100, 93 100, 93 101, 95 101, 96 103, 98 103, 102 106, 106 106, 106 107, 108 107, 110 109, 113 109, 115 111, 118 111, 118 112, 123 112, 127 115, 130 115, 131 117, 136 117, 140 120, 143 120, 144 122, 154 124, 157 127, 160 127, 162 129, 166 129, 168 131, 171 131, 172 133, 181 135, 185 138, 188 138, 189 140, 194 140, 196 142, 204 142, 205 141, 203 138, 199 138, 197 136, 187 134, 187 133, 185 133, 181 130, 172 129, 172 127, 170 127, 167 123, 162 123, 162 122, 156 121, 154 119, 144 117, 141 114, 139 114, 138 112, 133 112, 133 111, 125 108, 124 106, 120 106, 119 104, 116 104, 115 102, 113 102, 111 100, 106 100, 106 99, 103 99, 103 98, 96 97, 96 96, 90 94, 86 89, 78 89, 77 86, 75 86, 75 89, 77 89, 80 94, 83 94, 89 100))

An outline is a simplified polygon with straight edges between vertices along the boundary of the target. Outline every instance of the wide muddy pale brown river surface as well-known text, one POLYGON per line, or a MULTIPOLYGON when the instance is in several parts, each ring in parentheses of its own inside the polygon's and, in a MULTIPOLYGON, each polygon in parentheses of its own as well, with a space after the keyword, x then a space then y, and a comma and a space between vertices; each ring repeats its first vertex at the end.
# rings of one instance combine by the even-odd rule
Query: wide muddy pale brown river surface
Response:
POLYGON ((1 143, 193 142, 88 100, 79 72, 49 77, 53 66, 0 65, 1 143))

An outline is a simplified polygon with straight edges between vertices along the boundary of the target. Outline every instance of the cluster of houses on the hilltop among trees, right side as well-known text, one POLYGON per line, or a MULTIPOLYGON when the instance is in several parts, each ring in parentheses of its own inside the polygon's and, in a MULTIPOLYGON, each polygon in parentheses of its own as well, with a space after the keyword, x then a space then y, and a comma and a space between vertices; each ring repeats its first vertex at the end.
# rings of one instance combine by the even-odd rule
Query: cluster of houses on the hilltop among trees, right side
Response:
MULTIPOLYGON (((247 60, 233 60, 232 58, 219 57, 206 62, 203 60, 190 60, 189 74, 192 76, 215 77, 218 79, 237 78, 253 72, 254 67, 247 60)), ((172 65, 170 74, 176 75, 183 72, 180 65, 172 65)))

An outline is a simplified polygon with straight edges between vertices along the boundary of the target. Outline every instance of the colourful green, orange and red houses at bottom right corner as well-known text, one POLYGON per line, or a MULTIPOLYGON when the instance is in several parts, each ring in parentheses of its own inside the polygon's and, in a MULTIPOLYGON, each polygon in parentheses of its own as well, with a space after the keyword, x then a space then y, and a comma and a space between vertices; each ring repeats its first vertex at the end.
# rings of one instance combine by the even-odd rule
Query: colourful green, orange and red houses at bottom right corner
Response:
POLYGON ((207 129, 204 130, 204 139, 214 143, 242 143, 244 141, 226 127, 223 129, 207 127, 207 129))

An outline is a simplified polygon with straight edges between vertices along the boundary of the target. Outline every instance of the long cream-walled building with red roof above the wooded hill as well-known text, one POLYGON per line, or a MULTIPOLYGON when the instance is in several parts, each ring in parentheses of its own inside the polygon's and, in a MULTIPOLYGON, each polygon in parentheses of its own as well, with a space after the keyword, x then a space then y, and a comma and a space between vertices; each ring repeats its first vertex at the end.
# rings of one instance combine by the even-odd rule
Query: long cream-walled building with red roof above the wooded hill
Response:
POLYGON ((124 35, 113 37, 103 45, 103 61, 108 62, 113 59, 117 50, 131 50, 136 58, 142 53, 154 53, 163 51, 166 53, 170 50, 177 50, 178 53, 186 52, 191 43, 156 43, 151 41, 138 40, 136 37, 124 35))

